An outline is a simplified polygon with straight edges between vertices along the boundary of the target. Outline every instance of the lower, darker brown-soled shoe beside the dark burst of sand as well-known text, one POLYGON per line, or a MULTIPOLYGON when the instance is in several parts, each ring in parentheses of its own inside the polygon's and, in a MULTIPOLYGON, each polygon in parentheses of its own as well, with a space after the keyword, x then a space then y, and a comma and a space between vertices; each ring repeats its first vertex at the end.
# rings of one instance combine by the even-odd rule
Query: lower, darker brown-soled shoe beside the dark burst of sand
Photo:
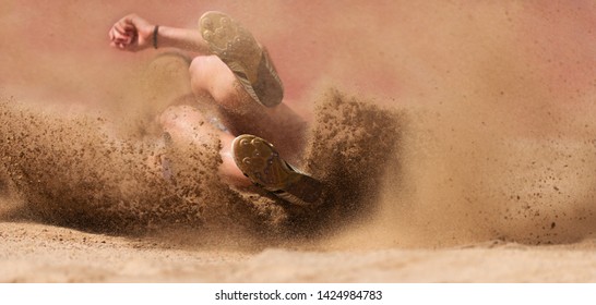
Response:
POLYGON ((236 166, 253 184, 290 204, 320 204, 323 184, 294 170, 271 143, 258 136, 240 135, 231 146, 236 166))

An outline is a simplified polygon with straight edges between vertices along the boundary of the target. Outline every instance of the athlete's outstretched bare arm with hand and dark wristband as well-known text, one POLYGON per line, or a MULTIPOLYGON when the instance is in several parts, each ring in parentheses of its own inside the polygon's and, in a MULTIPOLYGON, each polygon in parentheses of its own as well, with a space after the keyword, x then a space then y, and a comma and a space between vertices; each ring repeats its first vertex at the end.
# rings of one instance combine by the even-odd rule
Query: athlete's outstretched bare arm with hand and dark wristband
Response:
MULTIPOLYGON (((130 14, 119 20, 109 30, 110 45, 124 51, 141 51, 154 47, 155 24, 130 14)), ((208 47, 198 29, 159 26, 157 48, 178 48, 208 54, 208 47)))

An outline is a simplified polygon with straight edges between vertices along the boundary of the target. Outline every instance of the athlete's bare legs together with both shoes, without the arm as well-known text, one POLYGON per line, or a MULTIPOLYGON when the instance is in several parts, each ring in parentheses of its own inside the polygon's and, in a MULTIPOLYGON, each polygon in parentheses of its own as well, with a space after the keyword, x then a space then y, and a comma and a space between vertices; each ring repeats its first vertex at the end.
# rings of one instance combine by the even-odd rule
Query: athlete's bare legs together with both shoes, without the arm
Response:
POLYGON ((228 173, 241 171, 289 203, 319 205, 323 184, 286 162, 300 161, 307 122, 283 102, 283 85, 266 50, 223 13, 207 12, 200 23, 215 56, 192 61, 191 88, 214 101, 227 132, 238 136, 230 149, 236 167, 230 162, 228 173))

